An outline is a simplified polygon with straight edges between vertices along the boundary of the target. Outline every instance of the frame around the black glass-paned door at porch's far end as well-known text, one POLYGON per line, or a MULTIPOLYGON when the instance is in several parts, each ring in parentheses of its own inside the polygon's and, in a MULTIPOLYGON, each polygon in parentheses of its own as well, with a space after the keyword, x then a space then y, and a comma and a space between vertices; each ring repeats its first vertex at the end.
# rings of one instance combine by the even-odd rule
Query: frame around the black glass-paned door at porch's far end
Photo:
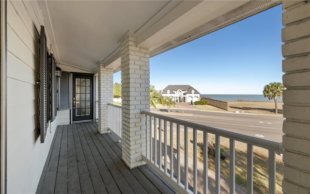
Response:
POLYGON ((70 73, 70 81, 71 81, 71 86, 70 86, 70 123, 85 123, 85 122, 95 122, 95 76, 92 73, 78 73, 78 72, 71 72, 70 73), (73 121, 73 87, 75 86, 73 76, 74 75, 81 75, 81 76, 92 76, 93 77, 93 119, 90 120, 82 120, 82 121, 73 121))

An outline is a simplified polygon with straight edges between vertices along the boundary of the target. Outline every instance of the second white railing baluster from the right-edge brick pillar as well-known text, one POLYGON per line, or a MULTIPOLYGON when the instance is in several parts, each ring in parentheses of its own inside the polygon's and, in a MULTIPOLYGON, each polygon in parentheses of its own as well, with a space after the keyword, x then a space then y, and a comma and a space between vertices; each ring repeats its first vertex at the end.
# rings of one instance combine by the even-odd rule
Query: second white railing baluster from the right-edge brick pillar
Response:
POLYGON ((247 150, 247 193, 253 194, 253 145, 247 150))

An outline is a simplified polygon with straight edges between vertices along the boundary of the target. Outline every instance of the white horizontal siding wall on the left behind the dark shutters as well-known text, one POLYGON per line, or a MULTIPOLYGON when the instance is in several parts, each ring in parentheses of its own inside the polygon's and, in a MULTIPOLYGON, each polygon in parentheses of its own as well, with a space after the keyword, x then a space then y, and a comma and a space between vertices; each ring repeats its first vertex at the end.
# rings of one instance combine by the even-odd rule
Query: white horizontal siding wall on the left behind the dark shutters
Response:
POLYGON ((35 193, 57 127, 56 119, 41 144, 35 81, 43 21, 36 1, 7 4, 7 193, 35 193))

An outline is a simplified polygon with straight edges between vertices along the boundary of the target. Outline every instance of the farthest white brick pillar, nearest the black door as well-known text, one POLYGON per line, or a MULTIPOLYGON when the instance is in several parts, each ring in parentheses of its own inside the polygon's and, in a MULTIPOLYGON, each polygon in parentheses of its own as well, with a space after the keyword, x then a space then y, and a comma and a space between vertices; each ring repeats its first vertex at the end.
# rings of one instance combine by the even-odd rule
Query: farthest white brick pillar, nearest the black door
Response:
POLYGON ((113 70, 99 66, 98 72, 98 131, 109 132, 110 111, 108 103, 113 103, 113 70))

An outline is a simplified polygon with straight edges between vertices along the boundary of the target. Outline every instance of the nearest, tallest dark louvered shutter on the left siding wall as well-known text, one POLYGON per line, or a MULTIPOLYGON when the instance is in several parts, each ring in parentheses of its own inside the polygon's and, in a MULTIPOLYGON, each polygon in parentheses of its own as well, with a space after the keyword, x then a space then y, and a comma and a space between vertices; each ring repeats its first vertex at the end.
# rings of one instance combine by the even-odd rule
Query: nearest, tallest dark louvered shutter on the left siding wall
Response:
POLYGON ((47 39, 44 26, 40 32, 40 136, 44 143, 48 128, 48 68, 47 39))

